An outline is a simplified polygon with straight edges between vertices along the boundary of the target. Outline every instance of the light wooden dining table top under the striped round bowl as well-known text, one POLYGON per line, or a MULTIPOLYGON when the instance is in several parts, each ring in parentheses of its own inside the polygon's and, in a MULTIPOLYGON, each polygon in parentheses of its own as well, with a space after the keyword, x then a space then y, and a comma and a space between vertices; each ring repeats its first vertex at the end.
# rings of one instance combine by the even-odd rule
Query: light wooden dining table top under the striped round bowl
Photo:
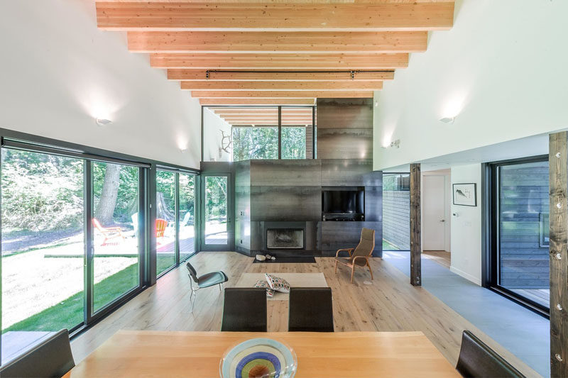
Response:
POLYGON ((422 332, 119 330, 64 377, 219 377, 224 352, 273 338, 297 355, 295 377, 459 377, 422 332))

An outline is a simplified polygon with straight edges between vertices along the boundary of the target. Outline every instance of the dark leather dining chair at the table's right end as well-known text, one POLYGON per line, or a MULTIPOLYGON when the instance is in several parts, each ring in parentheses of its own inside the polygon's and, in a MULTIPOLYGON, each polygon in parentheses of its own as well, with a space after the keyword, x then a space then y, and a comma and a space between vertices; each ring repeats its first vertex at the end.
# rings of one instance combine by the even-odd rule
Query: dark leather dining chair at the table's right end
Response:
POLYGON ((469 330, 464 330, 461 335, 461 348, 456 369, 461 377, 525 377, 469 330))

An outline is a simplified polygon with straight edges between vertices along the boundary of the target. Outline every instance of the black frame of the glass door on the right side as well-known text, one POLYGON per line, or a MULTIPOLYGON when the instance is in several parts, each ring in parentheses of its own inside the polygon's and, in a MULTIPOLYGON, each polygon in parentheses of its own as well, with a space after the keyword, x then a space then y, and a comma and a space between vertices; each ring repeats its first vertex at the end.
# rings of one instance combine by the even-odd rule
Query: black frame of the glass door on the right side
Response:
POLYGON ((499 168, 506 165, 519 165, 531 162, 548 162, 548 155, 486 163, 484 172, 482 170, 485 183, 482 182, 481 186, 486 194, 486 199, 482 199, 486 207, 486 210, 482 210, 482 215, 486 218, 485 226, 483 227, 484 233, 486 233, 486 252, 484 253, 485 262, 482 262, 482 269, 484 270, 482 272, 482 284, 487 289, 495 291, 497 294, 501 294, 511 301, 548 318, 550 316, 550 308, 520 296, 520 294, 499 284, 499 168))

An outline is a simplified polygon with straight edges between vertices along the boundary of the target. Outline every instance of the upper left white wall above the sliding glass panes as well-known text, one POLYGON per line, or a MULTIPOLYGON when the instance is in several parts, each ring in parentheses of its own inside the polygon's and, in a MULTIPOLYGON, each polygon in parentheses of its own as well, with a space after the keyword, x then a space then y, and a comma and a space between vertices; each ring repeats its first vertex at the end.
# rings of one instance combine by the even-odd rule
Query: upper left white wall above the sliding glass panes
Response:
POLYGON ((197 99, 98 30, 93 0, 1 1, 0 51, 0 127, 199 167, 197 99))

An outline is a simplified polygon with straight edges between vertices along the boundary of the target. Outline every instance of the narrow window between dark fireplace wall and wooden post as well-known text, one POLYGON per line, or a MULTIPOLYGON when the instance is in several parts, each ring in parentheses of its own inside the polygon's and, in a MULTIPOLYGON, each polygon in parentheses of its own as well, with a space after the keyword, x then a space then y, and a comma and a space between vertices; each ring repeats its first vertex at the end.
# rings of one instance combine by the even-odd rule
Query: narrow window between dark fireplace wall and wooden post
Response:
POLYGON ((383 250, 410 250, 408 173, 383 173, 383 250))

